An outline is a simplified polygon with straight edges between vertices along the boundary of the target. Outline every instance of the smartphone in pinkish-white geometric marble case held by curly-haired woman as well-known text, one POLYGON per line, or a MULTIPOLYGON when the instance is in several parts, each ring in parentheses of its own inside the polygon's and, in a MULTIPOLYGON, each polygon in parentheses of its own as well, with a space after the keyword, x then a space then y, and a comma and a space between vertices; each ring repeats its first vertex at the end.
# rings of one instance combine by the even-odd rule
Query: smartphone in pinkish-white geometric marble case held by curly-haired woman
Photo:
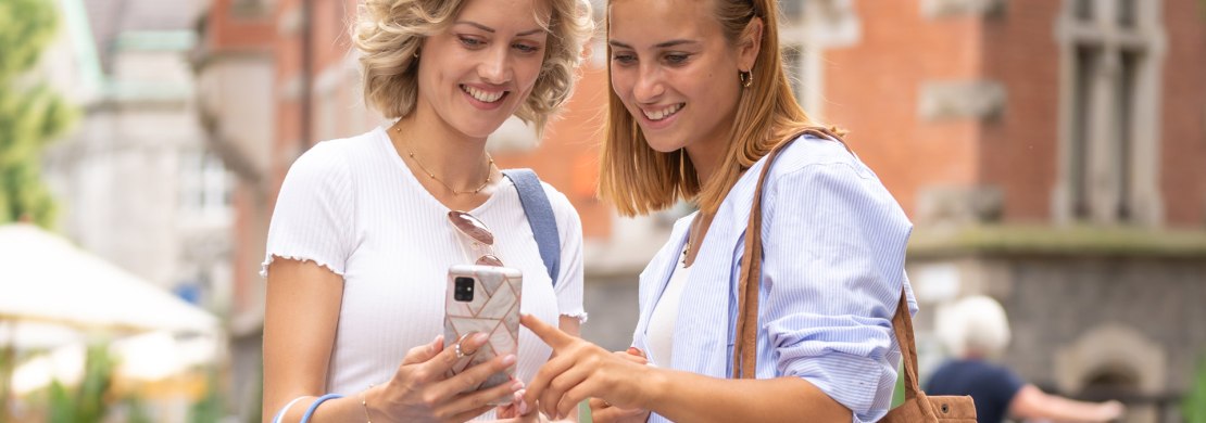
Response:
MULTIPOLYGON (((459 359, 449 376, 498 356, 519 353, 522 293, 523 272, 519 269, 482 265, 449 268, 444 296, 444 347, 455 348, 463 336, 474 333, 490 335, 490 341, 459 359)), ((514 369, 511 366, 507 372, 490 376, 478 389, 510 382, 514 369)))

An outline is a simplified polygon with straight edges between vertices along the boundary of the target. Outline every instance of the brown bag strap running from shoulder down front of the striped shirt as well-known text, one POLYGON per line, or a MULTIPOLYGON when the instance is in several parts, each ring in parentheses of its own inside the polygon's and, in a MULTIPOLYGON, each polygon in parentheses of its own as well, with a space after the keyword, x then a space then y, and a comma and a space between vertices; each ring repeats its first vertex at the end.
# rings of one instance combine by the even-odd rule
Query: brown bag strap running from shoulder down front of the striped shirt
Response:
POLYGON ((745 252, 742 255, 742 274, 737 284, 737 325, 733 330, 733 336, 736 337, 733 341, 733 378, 757 377, 757 301, 762 283, 762 186, 766 184, 767 175, 771 174, 771 165, 774 164, 774 159, 779 155, 779 152, 806 134, 842 142, 842 139, 825 128, 808 128, 784 140, 766 155, 766 165, 762 166, 762 174, 759 175, 757 187, 754 190, 754 201, 750 204, 749 224, 745 227, 745 252))

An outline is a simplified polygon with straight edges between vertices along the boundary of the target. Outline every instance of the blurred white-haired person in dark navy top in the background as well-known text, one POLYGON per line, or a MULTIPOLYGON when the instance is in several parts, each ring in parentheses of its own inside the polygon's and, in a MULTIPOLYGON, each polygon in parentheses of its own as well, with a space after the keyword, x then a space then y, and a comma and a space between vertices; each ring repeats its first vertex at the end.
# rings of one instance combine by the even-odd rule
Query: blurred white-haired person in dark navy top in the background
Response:
POLYGON ((1118 401, 1085 403, 1043 393, 1018 374, 990 360, 1009 343, 1009 322, 996 300, 973 295, 939 315, 941 334, 954 354, 930 376, 929 395, 971 395, 980 423, 1006 417, 1055 422, 1111 422, 1122 418, 1118 401))

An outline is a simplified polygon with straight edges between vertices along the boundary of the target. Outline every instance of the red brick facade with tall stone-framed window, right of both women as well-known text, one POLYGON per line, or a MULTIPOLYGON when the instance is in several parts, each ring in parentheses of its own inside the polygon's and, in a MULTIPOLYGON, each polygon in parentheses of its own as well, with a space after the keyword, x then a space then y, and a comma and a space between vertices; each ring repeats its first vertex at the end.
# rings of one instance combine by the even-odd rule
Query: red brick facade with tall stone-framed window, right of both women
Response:
POLYGON ((825 114, 917 218, 942 187, 993 190, 980 213, 1007 223, 1200 228, 1202 7, 860 1, 861 40, 825 52, 825 114))

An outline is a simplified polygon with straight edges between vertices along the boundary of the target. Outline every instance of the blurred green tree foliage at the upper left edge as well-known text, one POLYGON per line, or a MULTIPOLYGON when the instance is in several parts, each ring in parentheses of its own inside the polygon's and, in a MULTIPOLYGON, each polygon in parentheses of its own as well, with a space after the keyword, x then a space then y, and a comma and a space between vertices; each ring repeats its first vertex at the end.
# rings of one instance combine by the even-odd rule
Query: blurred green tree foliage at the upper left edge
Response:
POLYGON ((51 0, 0 0, 0 223, 54 221, 41 152, 75 111, 30 70, 57 30, 51 0))

